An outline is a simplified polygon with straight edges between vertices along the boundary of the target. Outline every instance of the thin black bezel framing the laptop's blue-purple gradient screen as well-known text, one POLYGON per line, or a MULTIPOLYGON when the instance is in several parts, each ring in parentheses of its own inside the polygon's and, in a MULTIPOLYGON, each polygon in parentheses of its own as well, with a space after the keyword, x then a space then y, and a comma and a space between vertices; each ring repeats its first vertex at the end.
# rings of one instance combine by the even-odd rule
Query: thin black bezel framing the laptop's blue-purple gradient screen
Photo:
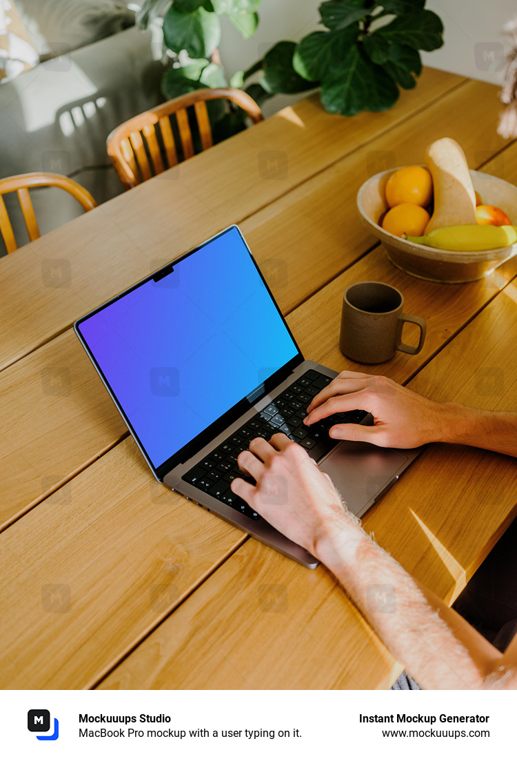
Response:
POLYGON ((74 322, 74 332, 76 333, 77 337, 80 339, 81 345, 83 345, 83 348, 88 354, 89 360, 92 361, 92 364, 95 367, 100 378, 102 379, 102 382, 104 383, 105 388, 108 390, 109 394, 111 395, 111 399, 113 400, 114 404, 117 406, 117 409, 119 413, 121 414, 121 417, 124 419, 125 424, 127 424, 127 428, 130 430, 131 435, 135 439, 136 445, 139 447, 140 451, 143 453, 143 456, 146 459, 147 464, 149 465, 149 468, 152 469, 153 474, 158 480, 163 480, 165 475, 168 474, 168 472, 170 472, 172 469, 174 469, 174 467, 176 467, 179 464, 182 464, 184 461, 187 461, 193 455, 196 455, 196 453, 199 452, 202 448, 204 448, 212 439, 214 439, 216 436, 224 432, 224 430, 227 427, 229 427, 230 424, 233 424, 234 421, 237 421, 237 419, 246 411, 248 411, 249 408, 252 408, 252 406, 254 406, 255 403, 257 403, 266 395, 268 395, 268 393, 271 392, 271 390, 273 390, 278 384, 283 382, 284 379, 287 379, 290 373, 303 361, 302 352, 300 351, 299 346, 296 343, 296 340, 294 339, 293 333, 291 332, 286 320, 284 319, 284 315, 280 311, 280 307, 278 306, 277 301, 275 301, 273 294, 271 293, 271 290, 268 287, 268 283, 265 281, 264 276, 262 275, 262 272, 259 269, 258 264, 255 261, 255 258, 253 257, 251 250, 249 250, 249 246, 246 243, 246 240, 244 239, 243 233, 240 231, 240 228, 237 226, 237 224, 232 224, 229 227, 224 228, 223 230, 218 232, 217 235, 213 235, 208 240, 205 240, 204 242, 197 245, 196 247, 193 247, 192 250, 188 250, 186 253, 178 256, 171 262, 165 264, 165 266, 162 266, 161 269, 157 269, 157 271, 152 272, 152 274, 149 274, 149 276, 146 276, 145 279, 141 279, 139 282, 136 282, 135 285, 131 285, 130 288, 127 288, 121 293, 115 295, 114 298, 111 298, 109 301, 106 301, 105 303, 96 307, 94 310, 89 311, 89 313, 86 313, 83 317, 80 317, 80 319, 77 319, 74 322), (116 301, 119 301, 121 298, 124 298, 125 295, 129 294, 130 292, 133 292, 133 290, 136 290, 136 288, 139 288, 142 285, 145 285, 146 282, 149 282, 151 279, 153 279, 155 282, 158 282, 160 279, 163 279, 164 276, 168 276, 168 274, 174 270, 174 263, 180 263, 180 261, 184 260, 186 257, 192 256, 198 250, 201 250, 203 247, 210 244, 212 241, 216 240, 217 238, 220 238, 222 235, 226 235, 231 230, 236 230, 237 234, 240 236, 241 241, 243 241, 244 247, 246 247, 249 257, 251 258, 252 263, 255 265, 255 269, 258 272, 258 276, 260 276, 260 278, 262 279, 262 283, 265 286, 266 290, 268 291, 268 294, 271 298, 271 301, 274 304, 274 307, 277 309, 280 319, 284 323, 284 326, 287 329, 287 332, 289 333, 290 338, 293 340, 293 345, 295 346, 297 353, 293 358, 290 359, 290 361, 287 362, 287 364, 284 364, 283 367, 280 367, 279 370, 277 370, 274 374, 272 374, 270 377, 265 379, 265 381, 261 385, 259 385, 257 388, 252 390, 252 392, 250 392, 249 395, 242 398, 232 408, 228 409, 228 411, 226 411, 221 417, 219 417, 214 422, 212 422, 212 424, 206 427, 205 430, 202 430, 202 432, 199 433, 199 435, 193 438, 190 442, 186 443, 186 445, 183 446, 183 448, 181 448, 179 451, 171 455, 168 459, 163 461, 160 465, 155 466, 152 463, 151 459, 149 458, 149 455, 146 452, 146 449, 144 448, 143 443, 139 439, 139 436, 136 434, 136 431, 133 429, 133 426, 131 425, 129 418, 127 417, 127 414, 124 411, 124 408, 122 408, 120 402, 118 401, 118 398, 115 395, 110 384, 108 383, 108 380, 106 379, 104 373, 102 372, 101 367, 99 367, 99 364, 96 361, 96 357, 92 354, 92 351, 90 350, 88 343, 86 342, 82 333, 80 332, 80 326, 83 322, 88 320, 90 317, 93 317, 96 313, 99 313, 99 311, 102 311, 108 306, 111 306, 111 304, 115 303, 116 301))

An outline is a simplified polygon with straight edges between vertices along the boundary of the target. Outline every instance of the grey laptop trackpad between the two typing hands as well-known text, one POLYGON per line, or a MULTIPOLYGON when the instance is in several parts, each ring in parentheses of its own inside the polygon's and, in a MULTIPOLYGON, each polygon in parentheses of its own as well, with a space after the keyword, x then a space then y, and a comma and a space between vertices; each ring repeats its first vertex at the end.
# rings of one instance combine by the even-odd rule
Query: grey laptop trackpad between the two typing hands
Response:
POLYGON ((320 464, 340 491, 349 509, 360 516, 396 480, 408 457, 368 442, 343 440, 320 464))

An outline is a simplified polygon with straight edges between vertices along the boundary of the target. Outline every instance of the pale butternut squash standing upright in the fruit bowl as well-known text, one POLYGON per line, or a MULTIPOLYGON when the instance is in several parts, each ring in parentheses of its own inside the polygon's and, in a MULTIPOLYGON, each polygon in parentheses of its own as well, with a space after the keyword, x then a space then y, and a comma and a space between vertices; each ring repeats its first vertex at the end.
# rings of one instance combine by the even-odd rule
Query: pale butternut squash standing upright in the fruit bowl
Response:
POLYGON ((425 151, 425 165, 433 178, 434 211, 425 234, 434 229, 476 224, 476 198, 467 159, 451 137, 435 140, 425 151))

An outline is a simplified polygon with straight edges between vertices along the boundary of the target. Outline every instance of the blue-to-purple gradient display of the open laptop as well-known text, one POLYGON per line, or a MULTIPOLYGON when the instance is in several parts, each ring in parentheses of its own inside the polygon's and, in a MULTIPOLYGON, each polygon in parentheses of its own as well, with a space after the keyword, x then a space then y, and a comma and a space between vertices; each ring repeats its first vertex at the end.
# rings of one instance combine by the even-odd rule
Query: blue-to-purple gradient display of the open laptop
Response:
POLYGON ((78 329, 155 468, 296 357, 237 228, 78 329))

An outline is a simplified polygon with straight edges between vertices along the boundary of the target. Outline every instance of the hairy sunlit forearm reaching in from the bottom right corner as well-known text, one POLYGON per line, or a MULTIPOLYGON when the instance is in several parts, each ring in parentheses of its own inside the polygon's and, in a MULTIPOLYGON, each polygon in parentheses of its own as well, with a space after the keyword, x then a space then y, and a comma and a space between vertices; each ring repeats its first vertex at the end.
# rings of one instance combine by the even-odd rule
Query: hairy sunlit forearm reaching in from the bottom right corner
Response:
POLYGON ((343 530, 322 538, 317 550, 422 688, 497 687, 497 678, 490 682, 489 676, 497 671, 499 651, 419 587, 359 526, 343 523, 343 530))

